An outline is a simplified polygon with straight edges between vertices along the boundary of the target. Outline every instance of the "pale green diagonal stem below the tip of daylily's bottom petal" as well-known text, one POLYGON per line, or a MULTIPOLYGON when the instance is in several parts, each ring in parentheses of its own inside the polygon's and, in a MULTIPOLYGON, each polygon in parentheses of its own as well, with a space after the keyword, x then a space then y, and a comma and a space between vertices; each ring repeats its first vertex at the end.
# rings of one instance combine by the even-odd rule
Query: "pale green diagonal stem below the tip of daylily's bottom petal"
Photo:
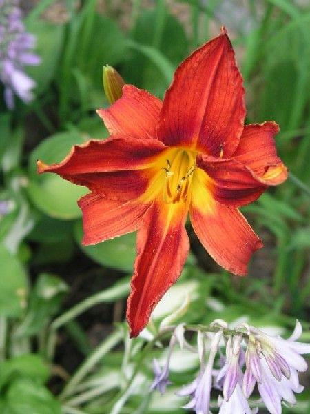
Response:
POLYGON ((121 331, 120 329, 114 331, 114 333, 112 333, 110 337, 107 337, 107 339, 105 339, 105 341, 103 341, 102 344, 100 344, 98 348, 94 350, 90 357, 85 359, 85 361, 83 362, 83 364, 81 364, 76 373, 72 375, 67 385, 63 389, 63 392, 61 393, 61 395, 59 395, 60 399, 64 400, 65 397, 68 397, 68 395, 74 393, 77 384, 79 384, 79 382, 83 380, 85 375, 87 375, 87 373, 89 373, 92 370, 92 368, 100 361, 100 359, 108 352, 110 352, 111 349, 114 348, 114 346, 118 344, 118 342, 120 342, 122 338, 123 331, 121 331))

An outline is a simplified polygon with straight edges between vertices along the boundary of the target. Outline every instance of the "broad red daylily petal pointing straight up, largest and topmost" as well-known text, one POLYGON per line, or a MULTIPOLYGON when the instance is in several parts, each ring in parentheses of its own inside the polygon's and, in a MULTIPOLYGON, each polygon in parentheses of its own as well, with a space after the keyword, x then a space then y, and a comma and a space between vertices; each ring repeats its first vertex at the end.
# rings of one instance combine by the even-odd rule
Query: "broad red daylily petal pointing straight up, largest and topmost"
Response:
POLYGON ((158 139, 218 157, 237 148, 245 118, 242 77, 225 31, 180 64, 167 90, 158 139))

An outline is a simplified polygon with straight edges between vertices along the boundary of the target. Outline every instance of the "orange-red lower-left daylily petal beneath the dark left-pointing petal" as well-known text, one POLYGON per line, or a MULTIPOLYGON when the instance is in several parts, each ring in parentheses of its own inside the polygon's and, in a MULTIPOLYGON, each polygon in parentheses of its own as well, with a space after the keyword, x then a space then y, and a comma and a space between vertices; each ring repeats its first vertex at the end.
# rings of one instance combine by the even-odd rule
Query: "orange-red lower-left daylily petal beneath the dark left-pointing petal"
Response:
POLYGON ((96 244, 137 230, 149 204, 111 201, 90 193, 79 200, 83 212, 83 244, 96 244))

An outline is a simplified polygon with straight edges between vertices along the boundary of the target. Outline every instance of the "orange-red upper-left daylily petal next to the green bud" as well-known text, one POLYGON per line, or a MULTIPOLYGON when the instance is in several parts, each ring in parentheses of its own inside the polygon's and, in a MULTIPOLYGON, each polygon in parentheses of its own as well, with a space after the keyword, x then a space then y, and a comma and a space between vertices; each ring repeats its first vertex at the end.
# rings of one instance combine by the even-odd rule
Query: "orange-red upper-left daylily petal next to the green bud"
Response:
POLYGON ((154 138, 161 106, 161 101, 146 90, 125 85, 121 99, 97 113, 111 135, 154 138))

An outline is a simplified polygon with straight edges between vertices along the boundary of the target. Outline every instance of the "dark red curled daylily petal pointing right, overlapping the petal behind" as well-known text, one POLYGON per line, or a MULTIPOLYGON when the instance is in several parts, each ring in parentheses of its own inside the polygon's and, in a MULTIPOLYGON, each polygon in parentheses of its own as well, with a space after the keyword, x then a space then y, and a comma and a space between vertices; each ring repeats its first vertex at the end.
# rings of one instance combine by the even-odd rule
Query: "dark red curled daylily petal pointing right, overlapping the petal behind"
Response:
POLYGON ((251 171, 234 159, 198 157, 197 166, 207 172, 205 185, 216 201, 240 207, 258 199, 267 186, 254 178, 251 171))

